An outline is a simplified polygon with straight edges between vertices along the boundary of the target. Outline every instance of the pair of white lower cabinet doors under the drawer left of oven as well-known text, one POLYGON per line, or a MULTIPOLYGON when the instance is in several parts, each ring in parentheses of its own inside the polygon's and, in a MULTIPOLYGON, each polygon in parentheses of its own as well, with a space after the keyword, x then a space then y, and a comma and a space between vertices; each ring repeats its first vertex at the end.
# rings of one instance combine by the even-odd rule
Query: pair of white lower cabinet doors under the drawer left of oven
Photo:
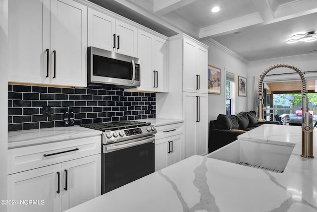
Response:
POLYGON ((101 195, 101 154, 8 175, 8 212, 61 212, 101 195))

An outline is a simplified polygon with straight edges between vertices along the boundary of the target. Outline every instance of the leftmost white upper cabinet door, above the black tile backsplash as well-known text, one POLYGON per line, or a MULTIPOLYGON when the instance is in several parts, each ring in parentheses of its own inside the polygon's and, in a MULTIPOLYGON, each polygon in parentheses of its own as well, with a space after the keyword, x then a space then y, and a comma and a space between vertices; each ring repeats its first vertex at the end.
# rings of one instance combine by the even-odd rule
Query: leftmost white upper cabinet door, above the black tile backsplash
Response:
POLYGON ((8 81, 50 84, 50 0, 10 0, 8 81))

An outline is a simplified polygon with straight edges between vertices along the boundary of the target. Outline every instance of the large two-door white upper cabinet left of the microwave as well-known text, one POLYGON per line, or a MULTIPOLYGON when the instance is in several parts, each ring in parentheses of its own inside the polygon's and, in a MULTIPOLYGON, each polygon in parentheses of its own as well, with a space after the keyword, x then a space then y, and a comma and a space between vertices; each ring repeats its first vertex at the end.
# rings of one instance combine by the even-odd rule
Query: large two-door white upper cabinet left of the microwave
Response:
POLYGON ((8 81, 87 86, 87 6, 9 1, 8 81))

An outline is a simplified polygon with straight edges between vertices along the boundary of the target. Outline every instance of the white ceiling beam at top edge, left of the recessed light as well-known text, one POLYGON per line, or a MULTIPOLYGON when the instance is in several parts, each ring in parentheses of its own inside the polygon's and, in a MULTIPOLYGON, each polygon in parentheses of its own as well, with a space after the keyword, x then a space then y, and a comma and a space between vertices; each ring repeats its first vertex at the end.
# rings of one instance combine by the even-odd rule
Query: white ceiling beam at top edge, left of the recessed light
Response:
POLYGON ((163 15, 197 0, 154 0, 153 12, 163 15))

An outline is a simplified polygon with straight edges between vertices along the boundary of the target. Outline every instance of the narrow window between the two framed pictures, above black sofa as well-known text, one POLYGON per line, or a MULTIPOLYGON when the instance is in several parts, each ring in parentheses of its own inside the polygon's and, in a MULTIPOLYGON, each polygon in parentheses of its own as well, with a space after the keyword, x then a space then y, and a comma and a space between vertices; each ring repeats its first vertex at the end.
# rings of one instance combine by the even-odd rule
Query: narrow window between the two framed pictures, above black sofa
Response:
POLYGON ((234 107, 234 74, 226 72, 226 114, 235 113, 234 107))

